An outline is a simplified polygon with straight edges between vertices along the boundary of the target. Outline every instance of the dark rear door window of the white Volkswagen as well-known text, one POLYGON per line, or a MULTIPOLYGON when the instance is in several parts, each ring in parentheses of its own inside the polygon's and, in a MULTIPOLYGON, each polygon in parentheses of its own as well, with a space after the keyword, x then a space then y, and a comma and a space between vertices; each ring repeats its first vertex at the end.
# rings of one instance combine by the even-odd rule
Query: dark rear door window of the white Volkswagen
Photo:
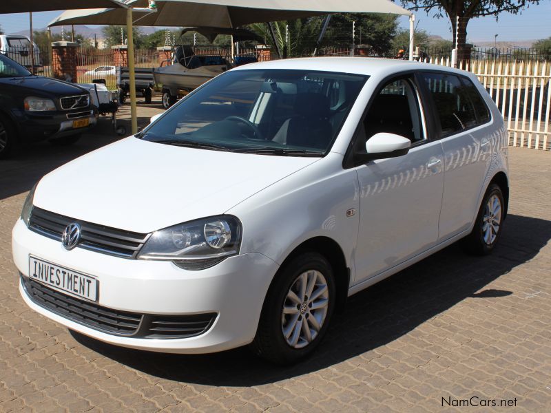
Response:
POLYGON ((459 77, 453 74, 422 74, 433 97, 441 136, 449 136, 477 125, 475 108, 459 77))

